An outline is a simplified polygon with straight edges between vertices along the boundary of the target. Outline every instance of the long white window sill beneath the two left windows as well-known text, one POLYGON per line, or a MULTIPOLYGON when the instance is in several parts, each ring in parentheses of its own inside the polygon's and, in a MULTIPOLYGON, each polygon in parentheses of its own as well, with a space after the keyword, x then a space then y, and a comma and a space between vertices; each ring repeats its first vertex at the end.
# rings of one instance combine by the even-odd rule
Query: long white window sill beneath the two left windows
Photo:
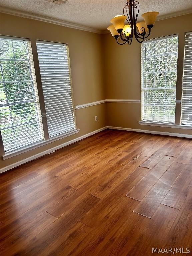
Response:
POLYGON ((14 156, 17 156, 17 155, 20 155, 20 154, 25 153, 25 152, 27 152, 27 151, 30 151, 30 150, 32 150, 32 149, 35 149, 35 148, 44 146, 44 145, 49 144, 49 143, 51 143, 51 142, 54 142, 54 141, 56 141, 56 140, 63 139, 63 138, 65 138, 65 137, 68 137, 68 136, 73 135, 73 134, 78 133, 78 132, 79 132, 79 129, 74 129, 74 130, 72 130, 72 131, 70 131, 70 132, 63 133, 62 135, 52 137, 52 138, 50 138, 50 139, 48 139, 48 140, 44 140, 44 141, 41 141, 41 142, 32 144, 32 145, 30 145, 30 146, 28 146, 28 147, 24 147, 24 148, 22 148, 22 149, 9 152, 9 153, 7 153, 7 154, 5 154, 5 155, 2 156, 2 157, 3 157, 3 160, 8 159, 8 158, 11 158, 11 157, 14 157, 14 156))

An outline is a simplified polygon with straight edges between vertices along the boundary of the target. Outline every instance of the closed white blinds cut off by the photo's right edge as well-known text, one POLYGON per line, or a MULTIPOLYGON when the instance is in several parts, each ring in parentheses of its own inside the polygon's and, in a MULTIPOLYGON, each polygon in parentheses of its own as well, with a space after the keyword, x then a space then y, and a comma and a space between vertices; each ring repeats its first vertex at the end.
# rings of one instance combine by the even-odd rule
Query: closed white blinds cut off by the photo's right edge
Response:
POLYGON ((185 36, 181 123, 192 125, 192 32, 185 36))

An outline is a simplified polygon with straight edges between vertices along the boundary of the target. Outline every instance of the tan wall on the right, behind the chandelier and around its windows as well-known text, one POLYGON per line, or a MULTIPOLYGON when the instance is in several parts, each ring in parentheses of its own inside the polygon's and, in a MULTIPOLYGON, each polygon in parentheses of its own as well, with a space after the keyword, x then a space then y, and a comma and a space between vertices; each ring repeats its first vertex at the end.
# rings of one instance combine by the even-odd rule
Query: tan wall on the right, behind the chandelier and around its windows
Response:
MULTIPOLYGON (((192 14, 157 21, 151 38, 179 34, 176 99, 181 100, 185 32, 192 31, 192 14)), ((141 98, 141 45, 133 39, 129 46, 118 45, 111 34, 103 36, 104 85, 107 99, 141 98)), ((139 103, 107 103, 107 125, 150 131, 192 134, 192 130, 139 125, 139 103)), ((176 104, 176 124, 180 122, 181 104, 176 104)))

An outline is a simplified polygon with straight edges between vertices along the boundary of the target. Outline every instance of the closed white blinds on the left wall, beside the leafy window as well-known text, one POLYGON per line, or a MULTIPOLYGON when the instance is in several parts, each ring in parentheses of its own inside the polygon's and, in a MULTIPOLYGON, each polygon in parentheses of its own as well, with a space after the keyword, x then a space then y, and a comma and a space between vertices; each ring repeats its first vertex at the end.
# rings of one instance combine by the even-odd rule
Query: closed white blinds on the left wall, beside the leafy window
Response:
POLYGON ((37 41, 49 137, 75 129, 66 44, 37 41))

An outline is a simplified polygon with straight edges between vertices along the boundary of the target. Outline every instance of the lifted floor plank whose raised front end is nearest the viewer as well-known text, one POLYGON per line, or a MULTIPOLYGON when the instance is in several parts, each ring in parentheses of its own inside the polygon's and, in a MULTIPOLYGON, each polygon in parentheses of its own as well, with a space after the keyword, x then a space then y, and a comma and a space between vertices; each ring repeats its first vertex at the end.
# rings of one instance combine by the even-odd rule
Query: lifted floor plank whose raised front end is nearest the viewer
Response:
POLYGON ((134 212, 151 218, 182 171, 182 164, 173 163, 146 194, 134 212))

